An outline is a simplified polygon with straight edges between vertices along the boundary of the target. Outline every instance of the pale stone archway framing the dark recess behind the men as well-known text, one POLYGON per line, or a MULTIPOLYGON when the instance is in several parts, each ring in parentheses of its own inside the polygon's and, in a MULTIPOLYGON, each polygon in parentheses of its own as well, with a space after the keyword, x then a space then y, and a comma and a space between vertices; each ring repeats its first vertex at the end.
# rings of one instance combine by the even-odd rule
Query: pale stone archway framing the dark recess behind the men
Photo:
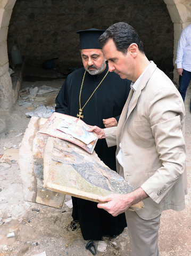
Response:
MULTIPOLYGON (((0 116, 10 114, 14 104, 6 40, 15 2, 16 0, 0 0, 0 116)), ((189 0, 164 0, 174 24, 174 62, 180 33, 191 23, 191 3, 189 2, 189 0)), ((176 72, 175 81, 178 81, 176 72)))

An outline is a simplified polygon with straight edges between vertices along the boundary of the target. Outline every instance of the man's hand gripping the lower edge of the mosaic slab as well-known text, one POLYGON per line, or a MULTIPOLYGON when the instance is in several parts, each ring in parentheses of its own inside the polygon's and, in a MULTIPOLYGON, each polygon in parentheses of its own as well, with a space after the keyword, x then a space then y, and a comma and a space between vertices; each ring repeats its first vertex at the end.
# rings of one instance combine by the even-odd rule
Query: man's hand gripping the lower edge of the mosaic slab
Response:
POLYGON ((115 217, 125 212, 131 205, 137 204, 147 197, 148 195, 142 188, 138 188, 135 191, 124 195, 112 194, 104 197, 98 196, 97 199, 99 201, 107 203, 99 203, 97 204, 97 207, 106 210, 115 217))

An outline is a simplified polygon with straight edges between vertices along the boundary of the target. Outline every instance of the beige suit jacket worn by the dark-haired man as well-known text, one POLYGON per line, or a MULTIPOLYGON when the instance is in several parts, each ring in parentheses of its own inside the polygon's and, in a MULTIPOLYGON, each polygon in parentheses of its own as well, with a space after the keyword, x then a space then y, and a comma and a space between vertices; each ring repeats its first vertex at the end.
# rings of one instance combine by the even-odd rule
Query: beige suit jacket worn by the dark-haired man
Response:
POLYGON ((144 209, 137 211, 148 220, 163 210, 185 208, 185 108, 175 85, 154 62, 140 80, 128 111, 132 94, 131 90, 118 126, 104 130, 107 146, 117 145, 116 155, 121 142, 123 169, 117 161, 118 173, 149 196, 144 209))

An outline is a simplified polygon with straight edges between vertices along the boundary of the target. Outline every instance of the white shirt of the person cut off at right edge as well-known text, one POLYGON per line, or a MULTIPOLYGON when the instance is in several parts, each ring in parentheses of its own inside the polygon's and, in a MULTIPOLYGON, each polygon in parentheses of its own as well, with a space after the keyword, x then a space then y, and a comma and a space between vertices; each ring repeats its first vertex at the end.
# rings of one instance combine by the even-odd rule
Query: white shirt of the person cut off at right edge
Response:
POLYGON ((175 63, 177 63, 177 68, 191 72, 191 24, 182 30, 175 63))

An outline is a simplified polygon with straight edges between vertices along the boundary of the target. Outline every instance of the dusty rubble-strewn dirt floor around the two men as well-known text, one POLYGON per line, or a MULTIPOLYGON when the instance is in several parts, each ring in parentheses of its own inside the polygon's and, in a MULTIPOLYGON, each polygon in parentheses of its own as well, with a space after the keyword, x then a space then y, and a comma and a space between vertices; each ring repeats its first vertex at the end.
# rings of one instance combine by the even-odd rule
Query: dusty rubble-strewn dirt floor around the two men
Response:
MULTIPOLYGON (((28 76, 30 71, 28 70, 28 73, 26 73, 21 85, 21 93, 19 95, 22 97, 19 97, 15 102, 11 115, 6 118, 6 124, 0 123, 0 126, 5 126, 4 132, 0 134, 0 156, 7 149, 20 148, 24 131, 30 121, 30 118, 27 118, 25 113, 34 111, 35 108, 41 105, 54 109, 53 99, 63 84, 64 78, 57 76, 55 71, 45 76, 41 74, 40 77, 44 77, 41 80, 38 79, 37 70, 34 70, 36 79, 30 79, 28 76), (47 76, 52 79, 46 79, 47 76), (58 90, 40 95, 40 97, 46 98, 48 102, 26 99, 26 101, 32 102, 30 107, 34 107, 34 109, 29 110, 22 105, 19 106, 19 102, 23 100, 23 97, 28 95, 23 89, 41 85, 55 87, 58 90)), ((188 171, 186 209, 181 212, 170 210, 162 213, 159 231, 161 256, 191 255, 191 114, 189 102, 190 93, 188 92, 185 100, 188 171)), ((80 230, 75 232, 67 230, 66 227, 72 220, 72 210, 65 203, 62 209, 55 209, 23 201, 20 169, 15 159, 7 160, 3 164, 0 163, 0 256, 34 256, 38 254, 39 256, 93 255, 86 250, 85 246, 88 241, 84 241, 80 230), (28 223, 24 222, 23 219, 28 223), (11 233, 12 230, 14 230, 15 236, 7 238, 7 234, 11 233)), ((70 199, 70 196, 66 196, 64 202, 70 201, 70 199)), ((98 249, 96 254, 98 256, 131 255, 127 228, 117 238, 104 237, 104 241, 94 241, 94 244, 96 250, 98 249)))

